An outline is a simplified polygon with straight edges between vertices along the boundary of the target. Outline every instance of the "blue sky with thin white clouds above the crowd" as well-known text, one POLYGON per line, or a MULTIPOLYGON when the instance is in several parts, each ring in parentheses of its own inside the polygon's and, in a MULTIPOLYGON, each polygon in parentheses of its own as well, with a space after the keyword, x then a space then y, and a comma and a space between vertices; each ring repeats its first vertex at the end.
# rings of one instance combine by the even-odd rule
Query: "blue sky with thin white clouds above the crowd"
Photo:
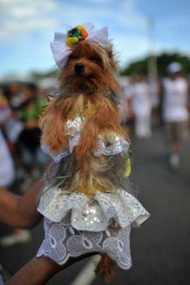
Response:
POLYGON ((189 11, 189 0, 1 0, 0 76, 53 68, 54 31, 87 21, 108 26, 121 66, 149 53, 149 17, 155 51, 190 55, 189 11))

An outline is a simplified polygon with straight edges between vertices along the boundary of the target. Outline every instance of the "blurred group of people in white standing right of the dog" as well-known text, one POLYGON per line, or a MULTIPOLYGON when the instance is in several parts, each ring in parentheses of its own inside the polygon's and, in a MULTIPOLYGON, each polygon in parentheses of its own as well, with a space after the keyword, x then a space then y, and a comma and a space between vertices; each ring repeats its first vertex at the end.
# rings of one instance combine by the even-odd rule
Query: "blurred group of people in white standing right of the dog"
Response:
POLYGON ((183 67, 173 62, 167 76, 159 81, 143 75, 122 81, 121 114, 128 131, 134 120, 134 135, 150 138, 152 126, 161 125, 171 170, 179 170, 181 141, 189 136, 189 81, 182 76, 183 67))

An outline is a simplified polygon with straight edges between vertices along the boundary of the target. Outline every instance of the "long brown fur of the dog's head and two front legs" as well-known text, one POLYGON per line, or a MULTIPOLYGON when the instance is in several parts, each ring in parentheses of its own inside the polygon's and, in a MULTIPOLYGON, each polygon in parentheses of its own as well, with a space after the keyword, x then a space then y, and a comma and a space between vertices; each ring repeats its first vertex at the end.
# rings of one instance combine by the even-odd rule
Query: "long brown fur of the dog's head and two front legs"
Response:
POLYGON ((111 45, 107 50, 95 43, 73 46, 73 53, 59 75, 60 89, 65 90, 67 95, 50 103, 47 115, 40 121, 43 130, 41 142, 48 146, 51 153, 56 154, 68 146, 64 123, 71 110, 80 110, 88 100, 93 103, 98 101, 100 108, 95 116, 85 123, 83 135, 76 150, 78 159, 85 153, 89 155, 90 148, 95 149, 97 137, 100 133, 105 135, 104 130, 122 133, 115 105, 109 98, 102 96, 107 91, 118 91, 119 85, 113 75, 115 64, 111 45), (78 76, 73 73, 73 70, 75 63, 81 62, 85 64, 85 74, 78 76), (100 104, 101 101, 102 104, 100 104), (89 134, 92 136, 90 137, 89 134))

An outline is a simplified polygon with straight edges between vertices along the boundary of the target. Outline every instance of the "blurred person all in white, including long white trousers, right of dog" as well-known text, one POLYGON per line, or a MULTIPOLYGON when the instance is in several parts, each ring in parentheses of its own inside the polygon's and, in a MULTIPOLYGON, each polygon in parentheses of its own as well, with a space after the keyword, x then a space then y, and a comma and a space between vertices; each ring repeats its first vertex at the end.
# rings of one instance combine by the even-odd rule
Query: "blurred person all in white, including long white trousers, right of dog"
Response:
POLYGON ((136 76, 131 87, 132 113, 137 138, 149 138, 151 131, 152 98, 144 76, 136 76))

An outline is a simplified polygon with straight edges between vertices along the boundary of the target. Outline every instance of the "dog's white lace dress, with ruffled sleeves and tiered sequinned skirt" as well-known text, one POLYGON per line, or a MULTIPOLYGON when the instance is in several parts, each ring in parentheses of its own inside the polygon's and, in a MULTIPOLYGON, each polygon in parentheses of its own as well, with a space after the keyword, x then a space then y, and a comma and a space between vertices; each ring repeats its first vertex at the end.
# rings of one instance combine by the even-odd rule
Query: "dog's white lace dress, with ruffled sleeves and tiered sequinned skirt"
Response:
MULTIPOLYGON (((69 147, 58 155, 51 155, 55 162, 73 152, 83 120, 76 117, 67 122, 69 147)), ((105 145, 100 137, 99 146, 94 155, 115 155, 127 152, 129 143, 110 133, 109 145, 105 145)), ((47 147, 42 148, 48 152, 47 147)), ((131 266, 131 226, 138 227, 149 217, 142 204, 122 189, 97 190, 93 197, 88 197, 59 187, 45 188, 38 211, 45 217, 45 239, 37 257, 49 257, 62 265, 69 257, 99 252, 106 253, 122 269, 131 266)))

